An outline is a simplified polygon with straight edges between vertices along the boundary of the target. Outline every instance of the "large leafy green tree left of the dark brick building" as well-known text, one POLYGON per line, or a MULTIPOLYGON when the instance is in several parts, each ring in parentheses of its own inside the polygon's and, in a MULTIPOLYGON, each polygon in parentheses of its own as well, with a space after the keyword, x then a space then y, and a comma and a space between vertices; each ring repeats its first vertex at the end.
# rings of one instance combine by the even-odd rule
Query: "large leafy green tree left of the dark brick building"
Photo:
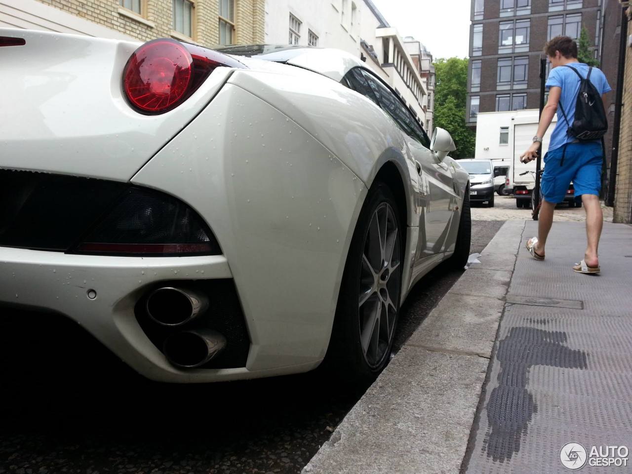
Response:
POLYGON ((434 125, 445 128, 456 145, 455 159, 474 156, 475 133, 465 125, 468 59, 437 59, 434 125))

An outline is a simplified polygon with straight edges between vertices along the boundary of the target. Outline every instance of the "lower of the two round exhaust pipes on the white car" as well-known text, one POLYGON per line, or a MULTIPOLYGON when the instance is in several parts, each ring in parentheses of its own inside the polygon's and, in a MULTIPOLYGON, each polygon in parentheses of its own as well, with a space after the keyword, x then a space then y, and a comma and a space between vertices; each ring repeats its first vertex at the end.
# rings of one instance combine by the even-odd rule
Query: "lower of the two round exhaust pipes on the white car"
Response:
POLYGON ((162 351, 179 368, 200 367, 226 347, 226 338, 212 329, 183 331, 167 337, 162 351))

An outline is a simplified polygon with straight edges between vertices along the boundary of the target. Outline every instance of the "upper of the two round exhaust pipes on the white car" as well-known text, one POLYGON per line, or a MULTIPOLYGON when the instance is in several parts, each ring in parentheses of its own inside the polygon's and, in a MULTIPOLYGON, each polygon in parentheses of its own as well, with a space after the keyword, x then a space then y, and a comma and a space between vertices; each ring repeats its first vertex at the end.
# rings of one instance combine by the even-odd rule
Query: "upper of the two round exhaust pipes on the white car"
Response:
POLYGON ((186 324, 205 312, 209 300, 205 296, 178 288, 158 288, 147 297, 147 314, 163 326, 186 324))

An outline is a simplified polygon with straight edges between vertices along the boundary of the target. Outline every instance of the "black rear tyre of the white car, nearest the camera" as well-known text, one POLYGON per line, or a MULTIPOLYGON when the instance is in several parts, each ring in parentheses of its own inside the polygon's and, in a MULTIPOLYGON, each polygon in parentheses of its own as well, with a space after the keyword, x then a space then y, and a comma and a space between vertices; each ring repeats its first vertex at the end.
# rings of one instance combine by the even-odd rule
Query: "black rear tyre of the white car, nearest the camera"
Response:
MULTIPOLYGON (((379 214, 378 214, 379 215, 379 214)), ((390 216, 391 214, 389 214, 390 216)), ((388 226, 388 224, 386 224, 388 226)), ((324 367, 329 370, 337 379, 343 384, 344 387, 350 389, 362 389, 374 382, 377 375, 382 372, 384 367, 390 360, 392 343, 394 340, 395 328, 397 327, 397 320, 399 317, 399 303, 401 300, 401 278, 403 270, 403 252, 404 252, 404 227, 401 222, 399 214, 399 205, 396 202, 394 195, 389 187, 381 182, 376 182, 371 186, 368 191, 365 204, 360 211, 358 222, 356 224, 353 238, 351 239, 351 245, 349 246, 349 252, 347 255, 346 264, 344 267, 343 279, 340 286, 336 305, 336 317, 334 319, 334 325, 332 328, 331 340, 329 342, 329 348, 327 348, 327 355, 325 355, 324 367), (396 306, 394 315, 389 315, 389 305, 384 303, 387 314, 387 326, 389 322, 394 318, 392 322, 392 332, 387 343, 384 343, 380 339, 380 331, 378 331, 377 346, 378 352, 381 353, 384 350, 384 354, 379 357, 379 360, 372 360, 373 363, 368 362, 368 353, 365 354, 365 349, 362 346, 361 331, 362 326, 360 319, 365 316, 361 314, 364 305, 360 303, 360 291, 362 285, 366 284, 366 270, 363 265, 363 258, 368 248, 371 248, 372 244, 369 241, 370 226, 374 222, 374 215, 379 210, 390 207, 392 210, 392 216, 396 222, 397 235, 399 236, 399 245, 393 247, 393 252, 397 250, 397 257, 393 255, 392 262, 397 258, 399 265, 396 270, 392 270, 391 274, 387 275, 387 283, 391 284, 391 279, 396 277, 397 283, 397 295, 396 300, 393 301, 396 306), (396 273, 397 272, 397 273, 396 273)), ((392 228, 391 228, 392 231, 392 228)), ((388 228, 387 228, 388 232, 388 228)), ((381 276, 381 274, 380 274, 381 276)), ((377 281, 377 280, 376 280, 377 281)), ((391 291, 394 286, 388 288, 388 296, 391 297, 391 291)), ((375 293, 376 300, 380 298, 379 295, 381 289, 375 293)), ((372 293, 373 295, 374 293, 372 293)), ((370 298, 367 298, 367 302, 370 298)), ((391 298, 392 300, 392 298, 391 298)), ((376 303, 377 304, 377 303, 376 303)), ((381 303, 380 303, 381 305, 381 303)), ((378 306, 380 308, 380 306, 378 306)), ((367 310, 364 310, 367 312, 367 310)), ((384 313, 377 310, 380 314, 380 318, 384 317, 384 313)), ((376 313, 376 314, 377 314, 376 313)), ((368 324, 368 323, 367 323, 368 324)), ((389 331, 387 331, 389 332, 389 331)), ((369 337, 369 343, 372 344, 373 334, 369 337)))

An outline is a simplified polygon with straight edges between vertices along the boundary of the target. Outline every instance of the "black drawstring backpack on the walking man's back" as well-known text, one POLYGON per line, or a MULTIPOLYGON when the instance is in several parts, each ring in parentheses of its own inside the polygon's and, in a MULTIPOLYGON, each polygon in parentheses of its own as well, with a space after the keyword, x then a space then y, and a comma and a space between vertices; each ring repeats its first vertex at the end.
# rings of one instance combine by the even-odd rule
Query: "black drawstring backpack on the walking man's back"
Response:
MULTIPOLYGON (((588 74, 586 78, 581 77, 578 70, 564 64, 564 67, 572 69, 576 75, 580 78, 580 90, 577 94, 577 100, 575 102, 575 116, 573 123, 568 121, 562 101, 559 101, 559 107, 564 114, 564 120, 568 125, 566 133, 574 137, 580 142, 592 142, 593 140, 603 139, 605 132, 608 131, 608 119, 605 116, 604 102, 601 99, 601 95, 595 86, 590 82, 590 73, 592 72, 592 66, 588 68, 588 74)), ((566 155, 566 143, 562 152, 562 160, 560 164, 564 164, 564 155, 566 155)), ((604 150, 605 152, 605 150, 604 150)))

